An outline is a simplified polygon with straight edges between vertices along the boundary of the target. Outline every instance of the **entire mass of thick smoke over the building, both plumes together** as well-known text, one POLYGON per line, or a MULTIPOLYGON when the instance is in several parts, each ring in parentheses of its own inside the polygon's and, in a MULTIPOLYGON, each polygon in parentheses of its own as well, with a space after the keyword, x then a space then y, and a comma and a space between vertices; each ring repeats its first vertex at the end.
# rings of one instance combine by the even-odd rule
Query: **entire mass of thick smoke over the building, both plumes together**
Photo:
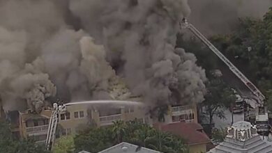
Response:
POLYGON ((151 106, 201 102, 204 70, 174 48, 189 14, 186 0, 1 0, 4 109, 108 99, 116 74, 151 106))

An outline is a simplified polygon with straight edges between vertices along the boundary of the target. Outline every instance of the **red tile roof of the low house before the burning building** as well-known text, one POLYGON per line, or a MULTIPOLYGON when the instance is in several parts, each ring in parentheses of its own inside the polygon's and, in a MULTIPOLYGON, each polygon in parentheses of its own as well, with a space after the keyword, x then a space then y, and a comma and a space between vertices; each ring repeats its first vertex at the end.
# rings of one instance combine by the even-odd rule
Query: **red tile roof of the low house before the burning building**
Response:
POLYGON ((154 127, 162 131, 181 136, 187 140, 188 145, 211 143, 200 124, 195 122, 176 122, 170 124, 154 124, 154 127))

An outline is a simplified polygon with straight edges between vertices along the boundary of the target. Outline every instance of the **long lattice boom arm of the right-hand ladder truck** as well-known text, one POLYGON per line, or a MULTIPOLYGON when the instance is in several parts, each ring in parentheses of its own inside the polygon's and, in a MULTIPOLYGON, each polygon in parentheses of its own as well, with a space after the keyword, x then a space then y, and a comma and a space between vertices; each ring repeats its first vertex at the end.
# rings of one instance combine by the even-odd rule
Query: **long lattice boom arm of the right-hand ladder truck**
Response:
POLYGON ((218 58, 220 58, 220 60, 229 67, 229 70, 231 70, 236 77, 238 77, 245 84, 245 86, 248 87, 253 95, 257 97, 259 101, 258 103, 263 105, 265 97, 262 92, 260 92, 259 89, 247 77, 245 77, 245 75, 237 67, 235 67, 216 47, 214 47, 213 44, 211 44, 211 42, 195 28, 195 26, 188 24, 186 19, 183 19, 181 26, 188 28, 197 36, 197 38, 199 38, 207 47, 209 47, 209 49, 211 49, 211 51, 213 51, 213 53, 216 54, 216 56, 218 56, 218 58))

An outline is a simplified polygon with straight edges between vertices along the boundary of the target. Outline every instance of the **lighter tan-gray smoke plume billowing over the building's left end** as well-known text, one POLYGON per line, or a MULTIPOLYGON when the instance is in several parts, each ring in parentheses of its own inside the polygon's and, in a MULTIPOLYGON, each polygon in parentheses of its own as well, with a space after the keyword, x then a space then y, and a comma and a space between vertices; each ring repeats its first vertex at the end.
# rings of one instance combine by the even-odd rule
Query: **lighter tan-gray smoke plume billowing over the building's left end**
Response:
POLYGON ((53 1, 0 1, 0 95, 5 110, 38 112, 50 97, 84 100, 93 90, 106 90, 114 72, 103 47, 84 31, 71 29, 61 11, 53 1))

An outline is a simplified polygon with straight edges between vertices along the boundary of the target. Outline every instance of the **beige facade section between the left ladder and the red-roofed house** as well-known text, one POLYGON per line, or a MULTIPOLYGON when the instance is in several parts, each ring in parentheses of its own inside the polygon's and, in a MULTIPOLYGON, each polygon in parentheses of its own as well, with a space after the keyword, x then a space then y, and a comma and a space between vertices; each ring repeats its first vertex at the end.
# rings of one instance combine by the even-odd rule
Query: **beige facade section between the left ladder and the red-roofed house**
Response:
POLYGON ((110 104, 93 106, 91 104, 74 104, 66 106, 66 113, 59 117, 61 135, 77 134, 78 131, 95 124, 103 127, 113 124, 116 120, 141 120, 149 122, 149 115, 145 114, 142 106, 117 106, 110 104))

